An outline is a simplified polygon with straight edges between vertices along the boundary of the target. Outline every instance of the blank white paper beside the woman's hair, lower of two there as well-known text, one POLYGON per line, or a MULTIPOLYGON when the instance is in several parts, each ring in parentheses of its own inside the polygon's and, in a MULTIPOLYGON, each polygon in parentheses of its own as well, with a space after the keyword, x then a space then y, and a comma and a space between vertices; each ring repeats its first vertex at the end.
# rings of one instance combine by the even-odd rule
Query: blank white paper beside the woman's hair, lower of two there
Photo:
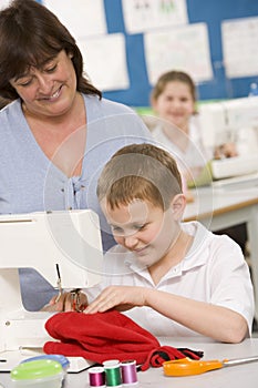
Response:
POLYGON ((85 72, 96 88, 102 91, 128 88, 124 34, 81 39, 78 44, 85 72))

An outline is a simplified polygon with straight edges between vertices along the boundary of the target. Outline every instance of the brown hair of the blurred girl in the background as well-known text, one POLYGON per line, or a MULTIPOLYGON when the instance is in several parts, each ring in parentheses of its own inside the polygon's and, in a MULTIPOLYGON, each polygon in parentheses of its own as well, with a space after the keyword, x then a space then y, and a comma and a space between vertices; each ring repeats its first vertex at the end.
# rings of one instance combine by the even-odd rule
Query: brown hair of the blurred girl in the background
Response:
POLYGON ((189 86, 192 98, 194 102, 196 102, 196 88, 193 79, 187 73, 177 70, 168 71, 159 76, 151 94, 152 101, 156 101, 158 96, 164 92, 167 83, 173 81, 179 81, 187 84, 189 86))

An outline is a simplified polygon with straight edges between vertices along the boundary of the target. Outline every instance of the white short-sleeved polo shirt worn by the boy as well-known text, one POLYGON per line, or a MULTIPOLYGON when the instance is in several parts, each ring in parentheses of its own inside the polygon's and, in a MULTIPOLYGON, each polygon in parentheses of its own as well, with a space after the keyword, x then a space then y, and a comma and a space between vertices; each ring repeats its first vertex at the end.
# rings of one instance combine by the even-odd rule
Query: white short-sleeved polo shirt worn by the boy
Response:
MULTIPOLYGON (((109 285, 151 287, 228 307, 246 318, 251 333, 254 290, 240 247, 228 236, 215 235, 198 222, 183 223, 182 227, 194 236, 194 243, 186 257, 157 285, 132 253, 115 246, 105 255, 101 288, 109 285)), ((149 307, 135 307, 124 314, 156 336, 198 335, 149 307)))

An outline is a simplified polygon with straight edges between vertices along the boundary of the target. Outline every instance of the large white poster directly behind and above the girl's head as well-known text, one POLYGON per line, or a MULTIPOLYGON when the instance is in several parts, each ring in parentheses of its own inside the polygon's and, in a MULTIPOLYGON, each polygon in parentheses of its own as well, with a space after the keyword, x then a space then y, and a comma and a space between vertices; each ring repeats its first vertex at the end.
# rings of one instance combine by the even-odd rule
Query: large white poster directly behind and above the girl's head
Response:
POLYGON ((169 70, 186 71, 196 83, 213 79, 206 23, 146 32, 144 50, 151 84, 155 84, 158 76, 169 70))

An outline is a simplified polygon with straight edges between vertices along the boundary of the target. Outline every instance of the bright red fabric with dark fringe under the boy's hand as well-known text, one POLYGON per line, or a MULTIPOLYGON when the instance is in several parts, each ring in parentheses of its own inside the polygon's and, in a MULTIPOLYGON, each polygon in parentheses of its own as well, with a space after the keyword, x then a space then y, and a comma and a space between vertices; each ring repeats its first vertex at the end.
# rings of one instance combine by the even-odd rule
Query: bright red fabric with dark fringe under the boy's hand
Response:
MULTIPOLYGON (((59 313, 45 323, 45 329, 59 340, 45 343, 43 350, 47 354, 84 357, 94 363, 113 358, 135 359, 137 365, 144 364, 142 370, 146 370, 149 365, 162 366, 164 360, 186 357, 179 349, 161 347, 149 331, 116 310, 59 313)), ((202 357, 194 350, 188 351, 195 358, 202 357)))

